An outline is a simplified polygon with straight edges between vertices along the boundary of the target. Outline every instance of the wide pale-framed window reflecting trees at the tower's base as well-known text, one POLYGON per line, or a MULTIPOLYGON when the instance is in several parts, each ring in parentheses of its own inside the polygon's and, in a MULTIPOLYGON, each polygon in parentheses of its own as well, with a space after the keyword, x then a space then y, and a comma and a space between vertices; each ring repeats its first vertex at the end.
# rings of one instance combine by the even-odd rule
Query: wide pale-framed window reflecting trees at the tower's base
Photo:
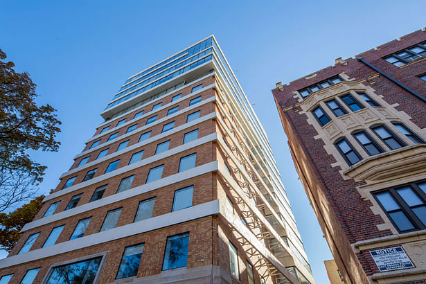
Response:
POLYGON ((102 256, 98 256, 97 258, 83 260, 78 263, 53 267, 46 284, 94 283, 101 261, 102 256))

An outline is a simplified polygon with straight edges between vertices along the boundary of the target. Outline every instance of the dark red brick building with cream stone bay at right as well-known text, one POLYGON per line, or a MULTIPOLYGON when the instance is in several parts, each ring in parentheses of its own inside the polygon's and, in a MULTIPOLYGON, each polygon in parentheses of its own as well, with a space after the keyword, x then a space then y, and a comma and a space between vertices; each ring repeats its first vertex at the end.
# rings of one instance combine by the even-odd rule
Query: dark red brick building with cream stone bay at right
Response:
POLYGON ((425 283, 426 29, 276 87, 345 283, 425 283))

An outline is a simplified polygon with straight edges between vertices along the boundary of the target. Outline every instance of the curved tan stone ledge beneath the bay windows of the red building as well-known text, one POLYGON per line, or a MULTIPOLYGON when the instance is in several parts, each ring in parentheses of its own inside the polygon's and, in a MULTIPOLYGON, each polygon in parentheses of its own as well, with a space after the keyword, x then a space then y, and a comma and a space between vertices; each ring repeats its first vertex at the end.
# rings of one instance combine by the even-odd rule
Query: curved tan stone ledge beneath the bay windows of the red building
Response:
POLYGON ((377 154, 344 170, 357 181, 384 181, 416 175, 426 168, 426 144, 416 144, 377 154))

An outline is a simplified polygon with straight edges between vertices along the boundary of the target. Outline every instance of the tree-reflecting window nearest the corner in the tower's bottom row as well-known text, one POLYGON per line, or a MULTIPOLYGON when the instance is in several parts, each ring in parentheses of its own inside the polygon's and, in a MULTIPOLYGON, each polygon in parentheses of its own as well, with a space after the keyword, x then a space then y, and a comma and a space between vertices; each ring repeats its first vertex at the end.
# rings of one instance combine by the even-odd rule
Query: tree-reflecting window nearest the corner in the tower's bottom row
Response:
POLYGON ((162 270, 185 267, 188 260, 188 245, 189 233, 168 237, 162 270))

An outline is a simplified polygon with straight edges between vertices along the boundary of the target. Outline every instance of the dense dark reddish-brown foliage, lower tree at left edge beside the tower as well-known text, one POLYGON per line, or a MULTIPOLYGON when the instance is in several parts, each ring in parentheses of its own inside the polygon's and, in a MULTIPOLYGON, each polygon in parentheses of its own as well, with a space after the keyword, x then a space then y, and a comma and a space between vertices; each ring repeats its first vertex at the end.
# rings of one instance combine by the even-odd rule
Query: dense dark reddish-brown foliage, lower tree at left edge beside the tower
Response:
POLYGON ((8 214, 0 213, 0 249, 10 251, 16 245, 21 237, 19 231, 26 223, 33 221, 42 208, 43 199, 44 195, 40 195, 15 211, 8 214))

